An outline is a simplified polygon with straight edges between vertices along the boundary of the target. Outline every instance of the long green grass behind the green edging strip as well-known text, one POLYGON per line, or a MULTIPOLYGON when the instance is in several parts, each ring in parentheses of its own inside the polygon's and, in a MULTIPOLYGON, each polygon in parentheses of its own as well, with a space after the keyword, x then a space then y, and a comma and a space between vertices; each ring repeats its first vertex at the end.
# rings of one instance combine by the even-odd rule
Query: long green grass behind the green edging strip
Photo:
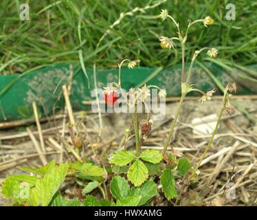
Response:
MULTIPOLYGON (((215 24, 194 25, 188 38, 187 58, 192 50, 206 45, 220 50, 216 62, 223 67, 256 64, 257 2, 252 0, 47 0, 26 1, 30 21, 19 19, 24 1, 1 0, 0 73, 29 72, 52 64, 79 64, 86 67, 115 67, 123 58, 139 58, 141 66, 156 67, 180 62, 180 50, 161 50, 158 36, 175 36, 170 21, 157 17, 162 8, 185 29, 189 19, 210 15, 215 24), (159 3, 159 5, 155 5, 159 3), (236 21, 226 21, 227 3, 236 5, 236 21), (137 10, 110 28, 120 13, 137 10), (104 39, 101 36, 109 31, 104 39), (80 34, 79 34, 80 33, 80 34), (80 54, 80 58, 79 58, 80 54)), ((177 46, 179 47, 179 45, 177 46)), ((205 56, 201 56, 201 59, 205 56)), ((256 73, 249 69, 252 76, 256 73)))

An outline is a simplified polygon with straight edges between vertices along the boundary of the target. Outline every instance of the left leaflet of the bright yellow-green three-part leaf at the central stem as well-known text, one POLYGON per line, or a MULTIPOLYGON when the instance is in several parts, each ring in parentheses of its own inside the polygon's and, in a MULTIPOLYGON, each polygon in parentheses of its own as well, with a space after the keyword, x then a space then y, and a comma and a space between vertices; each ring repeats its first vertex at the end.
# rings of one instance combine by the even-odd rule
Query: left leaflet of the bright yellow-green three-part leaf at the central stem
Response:
POLYGON ((118 166, 125 166, 126 164, 129 164, 133 159, 135 159, 134 152, 118 151, 113 154, 113 157, 110 159, 110 162, 118 166))

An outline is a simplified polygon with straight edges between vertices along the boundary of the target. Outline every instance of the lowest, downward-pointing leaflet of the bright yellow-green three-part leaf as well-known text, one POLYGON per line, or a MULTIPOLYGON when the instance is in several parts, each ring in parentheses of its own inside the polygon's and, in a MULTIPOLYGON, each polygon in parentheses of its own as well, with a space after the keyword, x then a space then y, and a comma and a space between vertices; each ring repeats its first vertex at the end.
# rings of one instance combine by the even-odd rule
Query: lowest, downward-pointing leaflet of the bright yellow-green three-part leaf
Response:
POLYGON ((148 177, 148 169, 146 165, 140 160, 136 159, 128 171, 128 179, 135 185, 141 186, 148 177))

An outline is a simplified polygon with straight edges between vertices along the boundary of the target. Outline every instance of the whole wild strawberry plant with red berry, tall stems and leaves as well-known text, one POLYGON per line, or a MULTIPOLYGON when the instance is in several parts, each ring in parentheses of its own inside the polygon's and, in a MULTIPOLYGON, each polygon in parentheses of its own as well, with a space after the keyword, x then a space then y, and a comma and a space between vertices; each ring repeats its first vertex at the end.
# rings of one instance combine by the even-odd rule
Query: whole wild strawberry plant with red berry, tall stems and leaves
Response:
MULTIPOLYGON (((12 199, 14 205, 146 206, 150 205, 151 199, 160 194, 164 195, 168 201, 172 201, 173 204, 177 205, 183 196, 183 192, 186 191, 190 184, 198 181, 197 173, 199 166, 212 144, 214 135, 221 122, 223 111, 234 113, 234 108, 230 103, 232 96, 230 93, 236 91, 236 85, 230 83, 224 90, 219 119, 210 142, 195 168, 186 157, 182 157, 181 153, 174 149, 168 152, 170 139, 186 95, 191 91, 198 91, 203 94, 200 101, 205 102, 210 100, 214 93, 214 89, 205 93, 190 84, 194 61, 204 50, 207 50, 208 56, 213 58, 218 55, 218 51, 213 47, 203 47, 200 50, 196 50, 193 53, 190 68, 186 74, 185 47, 190 27, 196 23, 203 23, 205 27, 208 27, 214 23, 214 20, 210 17, 205 17, 205 19, 189 23, 186 33, 183 34, 179 28, 179 23, 168 14, 167 10, 162 10, 160 17, 163 21, 170 19, 175 23, 178 34, 178 36, 172 38, 161 36, 161 48, 175 49, 174 41, 179 41, 182 50, 181 99, 175 112, 175 119, 170 125, 170 132, 168 133, 162 153, 155 149, 142 151, 142 143, 151 131, 152 120, 150 113, 147 113, 146 119, 140 120, 141 115, 137 111, 137 105, 139 102, 142 102, 147 109, 146 99, 150 98, 150 89, 152 88, 158 89, 160 98, 166 97, 166 91, 155 85, 144 85, 139 89, 131 88, 129 93, 122 93, 122 96, 130 97, 129 100, 126 99, 126 104, 129 108, 134 109, 133 113, 131 113, 133 131, 127 132, 126 140, 135 137, 135 148, 126 150, 126 144, 124 144, 124 149, 113 153, 109 158, 109 164, 106 165, 104 163, 102 167, 88 160, 85 160, 85 162, 67 162, 60 165, 57 165, 53 160, 41 168, 19 166, 20 170, 28 174, 7 177, 1 187, 3 195, 12 199), (131 136, 129 133, 131 133, 131 136), (67 198, 63 192, 74 184, 80 189, 80 194, 67 198)), ((120 78, 124 63, 128 63, 129 68, 134 68, 137 65, 137 61, 130 61, 129 59, 125 59, 118 64, 118 82, 110 83, 108 87, 104 88, 104 102, 109 107, 113 107, 119 99, 117 90, 122 87, 120 78)))

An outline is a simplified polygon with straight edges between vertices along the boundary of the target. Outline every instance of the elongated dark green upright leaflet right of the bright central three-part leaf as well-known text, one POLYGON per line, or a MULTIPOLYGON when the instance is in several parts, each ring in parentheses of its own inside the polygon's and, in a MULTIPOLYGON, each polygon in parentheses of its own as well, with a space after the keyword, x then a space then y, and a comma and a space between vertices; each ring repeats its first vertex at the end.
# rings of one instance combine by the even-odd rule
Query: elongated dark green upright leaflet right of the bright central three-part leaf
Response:
POLYGON ((166 169, 161 175, 162 191, 168 200, 177 196, 175 188, 175 179, 172 175, 172 170, 166 169))

